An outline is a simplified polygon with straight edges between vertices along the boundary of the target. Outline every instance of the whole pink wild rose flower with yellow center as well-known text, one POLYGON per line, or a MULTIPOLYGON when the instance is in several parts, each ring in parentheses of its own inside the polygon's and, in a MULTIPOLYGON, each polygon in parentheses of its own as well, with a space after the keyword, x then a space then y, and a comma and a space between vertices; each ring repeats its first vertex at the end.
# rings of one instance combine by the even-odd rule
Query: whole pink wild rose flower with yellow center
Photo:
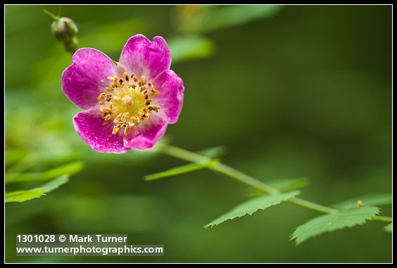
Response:
POLYGON ((63 71, 63 93, 84 111, 73 117, 78 134, 94 150, 125 153, 151 148, 182 109, 182 79, 170 70, 163 37, 131 37, 118 65, 96 49, 79 49, 63 71))

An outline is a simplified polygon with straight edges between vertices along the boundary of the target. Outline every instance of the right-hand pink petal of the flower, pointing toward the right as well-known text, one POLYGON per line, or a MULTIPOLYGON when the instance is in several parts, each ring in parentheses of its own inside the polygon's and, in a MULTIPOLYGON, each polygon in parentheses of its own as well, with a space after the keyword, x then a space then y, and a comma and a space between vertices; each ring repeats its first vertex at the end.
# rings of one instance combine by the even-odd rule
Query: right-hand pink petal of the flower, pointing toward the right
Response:
POLYGON ((156 96, 156 105, 160 106, 159 112, 165 113, 169 124, 175 124, 183 106, 182 79, 174 71, 166 70, 153 79, 153 86, 159 91, 156 96))

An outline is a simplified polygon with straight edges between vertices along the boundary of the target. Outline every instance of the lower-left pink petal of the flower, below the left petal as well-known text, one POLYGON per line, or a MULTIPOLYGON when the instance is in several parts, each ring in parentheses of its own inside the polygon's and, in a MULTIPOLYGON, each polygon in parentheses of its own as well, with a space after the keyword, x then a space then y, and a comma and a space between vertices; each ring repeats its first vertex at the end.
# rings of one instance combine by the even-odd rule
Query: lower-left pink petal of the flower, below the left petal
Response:
POLYGON ((123 146, 122 131, 112 134, 113 121, 102 118, 99 106, 84 110, 73 117, 77 133, 95 151, 103 153, 125 153, 130 148, 123 146))

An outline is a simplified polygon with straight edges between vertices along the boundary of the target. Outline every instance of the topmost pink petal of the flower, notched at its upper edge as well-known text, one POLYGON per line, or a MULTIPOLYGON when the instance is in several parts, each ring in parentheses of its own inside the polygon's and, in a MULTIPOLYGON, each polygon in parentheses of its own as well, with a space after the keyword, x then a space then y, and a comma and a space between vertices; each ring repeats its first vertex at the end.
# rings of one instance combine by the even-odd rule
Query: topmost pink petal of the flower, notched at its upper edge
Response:
POLYGON ((119 64, 127 73, 134 73, 138 78, 144 75, 150 81, 170 69, 170 50, 163 37, 154 37, 151 42, 144 35, 136 34, 122 49, 119 64))

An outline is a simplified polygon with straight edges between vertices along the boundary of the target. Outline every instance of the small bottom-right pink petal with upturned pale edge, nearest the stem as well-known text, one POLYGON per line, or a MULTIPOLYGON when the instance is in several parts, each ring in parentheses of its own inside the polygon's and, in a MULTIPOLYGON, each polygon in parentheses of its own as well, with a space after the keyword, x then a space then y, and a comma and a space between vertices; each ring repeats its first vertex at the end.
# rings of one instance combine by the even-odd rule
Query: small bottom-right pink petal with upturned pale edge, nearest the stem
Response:
POLYGON ((151 115, 149 121, 139 123, 134 131, 124 137, 124 146, 144 150, 153 147, 167 130, 168 123, 158 115, 151 115))

